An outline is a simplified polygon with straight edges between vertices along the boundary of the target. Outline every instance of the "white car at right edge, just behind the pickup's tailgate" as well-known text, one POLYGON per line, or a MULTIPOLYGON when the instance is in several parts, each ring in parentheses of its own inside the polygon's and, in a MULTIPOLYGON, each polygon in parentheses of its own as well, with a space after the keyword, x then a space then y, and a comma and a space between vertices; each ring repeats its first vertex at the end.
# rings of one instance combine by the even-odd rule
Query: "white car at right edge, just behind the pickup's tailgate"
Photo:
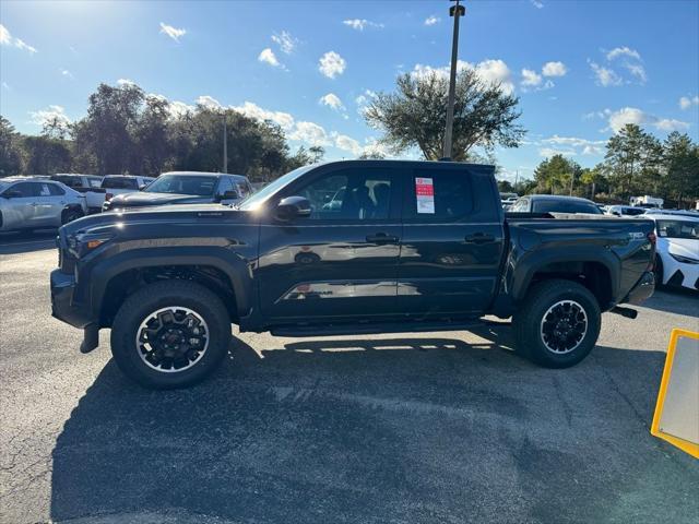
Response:
POLYGON ((655 278, 659 284, 699 290, 699 216, 648 213, 655 222, 655 278))

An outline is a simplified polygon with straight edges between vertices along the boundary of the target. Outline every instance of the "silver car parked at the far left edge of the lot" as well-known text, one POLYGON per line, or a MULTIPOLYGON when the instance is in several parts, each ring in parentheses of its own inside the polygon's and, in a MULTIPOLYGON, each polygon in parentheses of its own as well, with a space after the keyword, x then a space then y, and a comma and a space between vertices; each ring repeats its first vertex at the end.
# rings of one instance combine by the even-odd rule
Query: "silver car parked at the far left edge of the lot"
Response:
POLYGON ((0 178, 0 231, 59 227, 85 212, 85 196, 60 182, 0 178))

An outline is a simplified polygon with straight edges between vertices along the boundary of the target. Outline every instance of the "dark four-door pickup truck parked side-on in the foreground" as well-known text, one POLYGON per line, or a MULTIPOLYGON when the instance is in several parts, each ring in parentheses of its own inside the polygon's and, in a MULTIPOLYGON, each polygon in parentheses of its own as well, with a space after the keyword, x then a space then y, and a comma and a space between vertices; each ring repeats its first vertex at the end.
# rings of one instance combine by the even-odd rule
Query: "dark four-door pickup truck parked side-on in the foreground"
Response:
POLYGON ((283 336, 464 330, 512 317, 552 368, 593 348, 601 312, 654 288, 653 224, 513 214, 491 166, 350 160, 296 169, 236 206, 108 212, 60 228, 54 315, 111 327, 119 368, 178 388, 222 360, 230 325, 283 336))

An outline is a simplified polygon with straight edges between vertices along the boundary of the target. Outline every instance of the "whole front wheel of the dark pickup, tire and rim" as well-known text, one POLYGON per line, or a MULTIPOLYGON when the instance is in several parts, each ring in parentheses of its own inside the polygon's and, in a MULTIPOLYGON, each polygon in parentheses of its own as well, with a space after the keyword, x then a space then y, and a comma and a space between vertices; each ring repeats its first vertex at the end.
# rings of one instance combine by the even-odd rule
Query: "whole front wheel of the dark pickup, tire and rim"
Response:
POLYGON ((111 326, 111 354, 119 369, 154 390, 202 381, 224 358, 229 342, 230 318, 224 303, 187 281, 162 281, 139 289, 123 301, 111 326))

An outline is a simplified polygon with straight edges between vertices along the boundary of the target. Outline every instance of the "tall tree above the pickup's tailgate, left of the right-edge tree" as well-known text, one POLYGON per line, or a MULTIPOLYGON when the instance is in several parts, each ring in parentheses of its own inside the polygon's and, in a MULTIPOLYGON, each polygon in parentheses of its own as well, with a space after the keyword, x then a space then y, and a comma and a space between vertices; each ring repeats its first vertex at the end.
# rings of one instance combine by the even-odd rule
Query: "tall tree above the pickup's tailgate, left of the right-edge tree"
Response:
POLYGON ((657 188, 662 153, 657 139, 639 126, 627 123, 609 139, 606 147, 605 168, 618 196, 627 199, 637 189, 657 188))

